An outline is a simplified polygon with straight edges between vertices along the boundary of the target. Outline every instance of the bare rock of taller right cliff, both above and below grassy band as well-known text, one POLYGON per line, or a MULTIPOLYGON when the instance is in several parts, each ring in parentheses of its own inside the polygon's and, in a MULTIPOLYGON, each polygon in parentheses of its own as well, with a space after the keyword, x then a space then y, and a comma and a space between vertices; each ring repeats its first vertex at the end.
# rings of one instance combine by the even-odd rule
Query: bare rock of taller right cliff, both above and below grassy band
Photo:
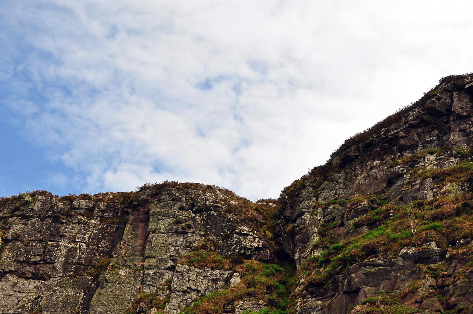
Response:
MULTIPOLYGON (((375 126, 374 131, 347 140, 327 165, 315 167, 311 173, 283 190, 280 212, 283 219, 278 221, 276 233, 278 241, 298 267, 307 261, 323 261, 324 257, 320 256, 324 253, 330 255, 330 245, 315 244, 329 240, 329 243, 350 243, 347 241, 367 234, 382 224, 384 219, 397 216, 395 212, 388 216, 381 217, 382 213, 376 216, 374 211, 382 210, 382 204, 377 203, 408 204, 403 208, 409 210, 415 202, 436 204, 435 200, 439 197, 445 199, 445 195, 453 195, 458 199, 462 193, 473 190, 468 163, 473 144, 472 87, 472 75, 444 79, 418 103, 388 118, 389 123, 378 123, 384 128, 376 129, 375 126), (358 195, 367 194, 364 201, 357 201, 358 195)), ((426 210, 430 209, 428 206, 425 206, 426 210)), ((455 206, 440 203, 435 206, 438 211, 443 209, 447 212, 439 215, 437 219, 440 221, 452 217, 450 215, 455 206)), ((460 207, 456 205, 457 209, 460 207)), ((421 206, 420 210, 423 209, 421 206)), ((424 216, 428 217, 428 214, 424 216)), ((411 219, 414 222, 418 220, 416 216, 411 219)), ((455 230, 455 227, 452 229, 455 230)), ((407 227, 405 231, 412 236, 415 227, 412 230, 407 227)), ((470 236, 469 233, 467 236, 470 236)), ((439 237, 435 240, 444 242, 445 247, 444 239, 439 237)), ((463 239, 459 243, 469 241, 463 239)), ((465 278, 464 274, 470 272, 468 261, 471 255, 458 257, 457 252, 461 248, 455 249, 455 242, 449 244, 450 250, 453 245, 453 255, 449 255, 444 248, 437 248, 435 242, 416 243, 416 246, 400 249, 397 253, 382 254, 382 251, 375 250, 377 258, 355 262, 351 266, 350 262, 345 262, 349 268, 339 266, 331 269, 330 273, 324 271, 331 267, 326 268, 328 264, 324 266, 324 262, 319 262, 318 267, 325 267, 320 269, 320 274, 315 268, 312 273, 309 269, 305 271, 307 275, 301 276, 296 293, 297 313, 348 313, 357 304, 359 306, 352 313, 361 313, 367 310, 367 306, 380 307, 376 310, 379 313, 411 313, 412 308, 430 313, 447 309, 467 313, 472 305, 471 297, 468 297, 472 287, 466 284, 469 275, 465 278), (445 271, 433 271, 438 268, 445 271), (458 271, 456 275, 455 271, 458 271), (442 273, 443 277, 432 278, 429 275, 431 272, 436 272, 437 276, 442 273), (412 283, 416 285, 411 291, 412 283), (463 297, 450 292, 450 288, 462 284, 463 297), (388 303, 382 303, 382 297, 388 296, 383 291, 393 291, 396 299, 389 302, 394 304, 395 301, 397 305, 389 306, 399 306, 398 311, 401 312, 392 312, 386 307, 388 303), (370 301, 370 298, 377 301, 370 301), (376 304, 370 305, 369 302, 376 304), (405 308, 401 310, 403 306, 405 308)), ((360 253, 366 253, 367 257, 372 255, 370 246, 363 245, 365 252, 347 255, 348 258, 360 253)), ((465 252, 470 254, 470 248, 465 252)), ((363 258, 357 256, 357 259, 363 258)), ((302 269, 301 272, 307 267, 302 269)))

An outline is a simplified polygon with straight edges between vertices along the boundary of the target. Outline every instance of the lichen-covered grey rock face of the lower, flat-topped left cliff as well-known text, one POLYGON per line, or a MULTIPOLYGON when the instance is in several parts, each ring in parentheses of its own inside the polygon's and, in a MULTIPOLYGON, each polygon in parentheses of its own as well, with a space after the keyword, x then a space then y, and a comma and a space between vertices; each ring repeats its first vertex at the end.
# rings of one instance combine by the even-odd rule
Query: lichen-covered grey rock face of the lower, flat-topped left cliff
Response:
POLYGON ((0 313, 123 314, 149 293, 168 297, 164 313, 178 313, 233 275, 177 264, 186 253, 206 247, 272 260, 267 236, 227 212, 251 202, 209 187, 123 193, 120 201, 4 201, 0 313))

